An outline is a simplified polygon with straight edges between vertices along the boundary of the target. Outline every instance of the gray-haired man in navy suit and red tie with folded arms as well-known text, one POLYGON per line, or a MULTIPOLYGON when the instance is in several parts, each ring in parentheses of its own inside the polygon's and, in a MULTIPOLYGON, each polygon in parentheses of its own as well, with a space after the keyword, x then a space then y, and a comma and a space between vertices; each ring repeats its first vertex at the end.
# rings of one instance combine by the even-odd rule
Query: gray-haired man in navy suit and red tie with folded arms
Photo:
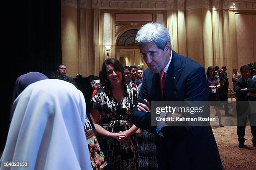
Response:
POLYGON ((133 123, 156 135, 157 162, 161 170, 222 170, 218 147, 208 126, 151 126, 151 101, 205 101, 205 69, 172 50, 168 30, 148 23, 136 35, 148 65, 143 73, 133 123), (157 130, 157 132, 156 132, 157 130))

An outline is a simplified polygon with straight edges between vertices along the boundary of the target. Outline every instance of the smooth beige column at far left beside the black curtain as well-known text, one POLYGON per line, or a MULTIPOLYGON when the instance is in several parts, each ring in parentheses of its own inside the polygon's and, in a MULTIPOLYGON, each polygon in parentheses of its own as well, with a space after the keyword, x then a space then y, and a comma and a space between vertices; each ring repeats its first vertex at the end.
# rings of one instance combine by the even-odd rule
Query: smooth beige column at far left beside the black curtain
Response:
POLYGON ((67 66, 67 76, 79 73, 77 9, 61 6, 62 62, 67 66))

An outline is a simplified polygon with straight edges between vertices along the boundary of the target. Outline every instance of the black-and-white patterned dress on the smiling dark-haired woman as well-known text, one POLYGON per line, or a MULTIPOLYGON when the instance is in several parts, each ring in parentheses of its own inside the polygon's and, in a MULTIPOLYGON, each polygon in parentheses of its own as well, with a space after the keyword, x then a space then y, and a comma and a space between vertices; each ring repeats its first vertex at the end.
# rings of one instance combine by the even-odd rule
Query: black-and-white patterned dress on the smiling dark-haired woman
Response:
MULTIPOLYGON (((133 125, 131 113, 135 107, 138 92, 136 88, 126 85, 121 105, 113 97, 111 90, 105 87, 97 91, 92 99, 92 107, 100 111, 100 125, 112 133, 125 131, 133 125)), ((137 170, 138 154, 136 135, 133 134, 124 142, 114 138, 100 136, 101 144, 106 151, 108 168, 111 170, 137 170)))

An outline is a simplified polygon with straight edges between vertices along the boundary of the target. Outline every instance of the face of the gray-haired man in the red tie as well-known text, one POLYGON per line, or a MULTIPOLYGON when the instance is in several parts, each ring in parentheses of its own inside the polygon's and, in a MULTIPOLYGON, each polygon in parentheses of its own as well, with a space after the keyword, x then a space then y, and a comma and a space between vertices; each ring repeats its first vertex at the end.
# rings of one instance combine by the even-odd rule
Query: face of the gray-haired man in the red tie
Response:
POLYGON ((166 43, 164 50, 161 50, 153 42, 138 45, 138 47, 143 55, 143 60, 153 73, 158 73, 163 70, 170 60, 170 42, 166 43))

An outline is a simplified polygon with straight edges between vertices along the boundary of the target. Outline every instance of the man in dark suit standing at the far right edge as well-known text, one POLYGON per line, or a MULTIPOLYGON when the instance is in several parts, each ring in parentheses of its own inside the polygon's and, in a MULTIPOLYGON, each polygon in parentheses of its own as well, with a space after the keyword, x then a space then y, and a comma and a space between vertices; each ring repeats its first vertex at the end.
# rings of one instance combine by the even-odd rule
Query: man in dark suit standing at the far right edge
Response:
POLYGON ((248 65, 243 65, 240 68, 242 78, 236 80, 235 92, 237 95, 237 135, 239 148, 244 147, 245 142, 245 128, 247 117, 251 124, 251 134, 253 135, 252 143, 256 147, 256 81, 249 78, 250 77, 250 67, 248 65))

